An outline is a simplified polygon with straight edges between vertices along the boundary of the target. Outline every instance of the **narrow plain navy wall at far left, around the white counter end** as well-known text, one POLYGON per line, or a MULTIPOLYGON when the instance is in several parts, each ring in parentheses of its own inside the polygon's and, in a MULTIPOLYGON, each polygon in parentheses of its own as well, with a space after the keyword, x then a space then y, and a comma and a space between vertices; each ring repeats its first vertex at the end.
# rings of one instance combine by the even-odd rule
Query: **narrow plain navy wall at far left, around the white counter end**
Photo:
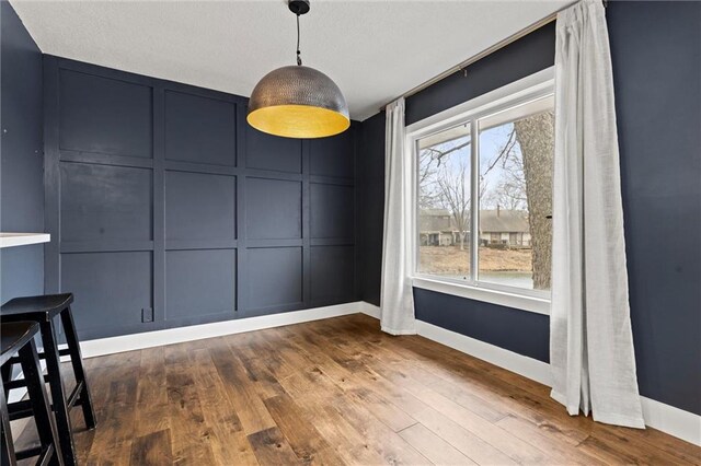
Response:
MULTIPOLYGON (((0 20, 0 231, 43 232, 42 54, 4 0, 0 20)), ((0 302, 43 291, 42 245, 0 249, 0 302)))

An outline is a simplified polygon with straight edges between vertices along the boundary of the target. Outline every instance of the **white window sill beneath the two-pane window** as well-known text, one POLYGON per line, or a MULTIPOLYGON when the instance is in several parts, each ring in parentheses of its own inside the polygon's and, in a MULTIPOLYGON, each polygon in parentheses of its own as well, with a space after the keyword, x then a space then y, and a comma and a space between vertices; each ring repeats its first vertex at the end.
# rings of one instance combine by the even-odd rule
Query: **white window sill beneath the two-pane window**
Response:
POLYGON ((412 279, 412 284, 415 288, 421 288, 422 290, 429 290, 537 314, 550 315, 550 300, 543 298, 527 296, 524 294, 508 293, 486 288, 450 283, 424 277, 414 277, 412 279))

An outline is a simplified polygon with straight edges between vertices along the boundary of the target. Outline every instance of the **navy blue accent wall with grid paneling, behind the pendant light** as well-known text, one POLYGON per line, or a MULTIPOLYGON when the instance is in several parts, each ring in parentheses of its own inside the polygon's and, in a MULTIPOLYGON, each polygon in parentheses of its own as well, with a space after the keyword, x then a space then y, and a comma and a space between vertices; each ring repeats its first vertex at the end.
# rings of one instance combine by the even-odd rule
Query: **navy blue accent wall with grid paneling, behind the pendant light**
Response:
POLYGON ((45 56, 46 290, 100 338, 357 300, 355 132, 276 138, 246 100, 45 56))

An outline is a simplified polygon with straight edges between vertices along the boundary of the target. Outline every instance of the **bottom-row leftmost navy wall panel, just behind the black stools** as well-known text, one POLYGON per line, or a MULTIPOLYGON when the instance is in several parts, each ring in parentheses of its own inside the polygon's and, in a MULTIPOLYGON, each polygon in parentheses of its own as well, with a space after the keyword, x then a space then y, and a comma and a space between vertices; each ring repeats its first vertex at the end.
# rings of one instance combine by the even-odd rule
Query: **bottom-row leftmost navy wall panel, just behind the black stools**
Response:
POLYGON ((141 310, 152 307, 150 252, 64 254, 61 281, 76 298, 71 308, 81 339, 134 328, 141 310))

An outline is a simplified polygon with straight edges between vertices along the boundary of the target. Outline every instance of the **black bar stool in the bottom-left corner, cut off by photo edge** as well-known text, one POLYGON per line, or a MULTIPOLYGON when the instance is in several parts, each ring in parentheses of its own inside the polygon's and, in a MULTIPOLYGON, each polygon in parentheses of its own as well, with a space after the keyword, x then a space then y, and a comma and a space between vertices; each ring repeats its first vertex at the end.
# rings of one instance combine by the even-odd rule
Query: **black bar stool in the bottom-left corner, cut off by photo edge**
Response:
POLYGON ((58 435, 54 420, 51 419, 49 405, 46 399, 44 374, 36 353, 34 337, 38 334, 39 326, 34 322, 2 323, 0 326, 0 365, 5 368, 12 356, 19 352, 19 363, 22 365, 27 393, 31 416, 34 416, 36 431, 39 434, 39 446, 14 451, 12 430, 10 429, 10 413, 5 398, 5 391, 0 391, 0 417, 2 418, 2 465, 14 466, 18 459, 37 456, 37 465, 62 465, 58 435))

